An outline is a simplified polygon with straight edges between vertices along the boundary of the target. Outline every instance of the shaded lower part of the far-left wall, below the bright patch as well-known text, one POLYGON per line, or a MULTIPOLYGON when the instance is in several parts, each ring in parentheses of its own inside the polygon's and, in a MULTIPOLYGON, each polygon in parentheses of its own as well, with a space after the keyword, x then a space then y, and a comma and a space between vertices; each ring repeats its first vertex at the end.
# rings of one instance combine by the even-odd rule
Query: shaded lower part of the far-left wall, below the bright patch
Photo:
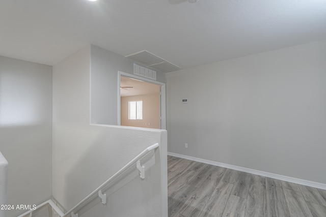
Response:
MULTIPOLYGON (((0 149, 8 162, 8 204, 40 204, 51 198, 51 128, 0 126, 0 149)), ((17 216, 25 210, 8 210, 17 216)))

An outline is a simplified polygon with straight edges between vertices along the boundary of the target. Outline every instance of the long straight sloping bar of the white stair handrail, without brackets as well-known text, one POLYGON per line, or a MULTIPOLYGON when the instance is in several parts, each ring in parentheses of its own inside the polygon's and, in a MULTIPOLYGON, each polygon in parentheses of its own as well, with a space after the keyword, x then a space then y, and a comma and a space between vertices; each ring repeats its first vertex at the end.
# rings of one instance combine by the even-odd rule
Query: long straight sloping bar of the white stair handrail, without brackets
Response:
MULTIPOLYGON (((129 167, 131 167, 133 164, 137 163, 138 160, 143 158, 149 151, 157 148, 158 146, 159 146, 158 143, 155 143, 155 144, 147 147, 140 154, 138 154, 138 156, 136 156, 134 159, 132 159, 128 164, 126 164, 124 167, 122 167, 118 172, 116 172, 113 176, 111 176, 103 184, 101 184, 97 189, 95 189, 91 194, 89 194, 82 201, 80 201, 74 207, 72 207, 69 211, 67 211, 62 217, 69 216, 69 215, 71 215, 71 213, 75 213, 74 211, 78 211, 84 205, 87 205, 87 201, 91 201, 94 198, 96 198, 99 194, 99 191, 101 191, 101 189, 103 189, 107 184, 112 182, 114 179, 116 179, 118 176, 120 176, 124 171, 126 171, 129 167)), ((75 214, 73 214, 73 215, 77 216, 75 214)))

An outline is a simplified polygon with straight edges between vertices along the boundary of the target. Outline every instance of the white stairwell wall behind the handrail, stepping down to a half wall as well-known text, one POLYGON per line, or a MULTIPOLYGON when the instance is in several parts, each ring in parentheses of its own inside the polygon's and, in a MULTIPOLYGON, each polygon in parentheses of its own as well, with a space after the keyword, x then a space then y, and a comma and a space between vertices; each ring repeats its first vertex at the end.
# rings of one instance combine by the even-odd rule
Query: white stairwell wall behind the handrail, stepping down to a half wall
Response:
MULTIPOLYGON (((155 171, 143 181, 132 180, 108 198, 107 206, 98 205, 99 209, 84 215, 161 216, 167 212, 166 131, 90 126, 91 49, 87 46, 53 66, 53 197, 66 210, 72 208, 147 146, 158 142, 155 171), (125 201, 129 205, 121 206, 125 201)), ((92 68, 94 64, 92 61, 92 68)), ((119 68, 116 64, 113 67, 119 68)), ((99 94, 106 96, 107 92, 99 94)))

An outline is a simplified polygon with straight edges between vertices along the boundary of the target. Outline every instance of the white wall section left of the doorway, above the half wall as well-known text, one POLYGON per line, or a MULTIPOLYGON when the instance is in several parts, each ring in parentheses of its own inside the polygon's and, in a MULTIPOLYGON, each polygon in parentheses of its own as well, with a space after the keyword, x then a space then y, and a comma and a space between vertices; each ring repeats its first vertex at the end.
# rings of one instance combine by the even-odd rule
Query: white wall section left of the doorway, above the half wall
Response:
MULTIPOLYGON (((118 71, 133 74, 133 63, 124 56, 91 45, 91 123, 118 124, 118 71), (105 94, 103 94, 105 93, 105 94)), ((157 72, 165 83, 165 74, 157 72)))

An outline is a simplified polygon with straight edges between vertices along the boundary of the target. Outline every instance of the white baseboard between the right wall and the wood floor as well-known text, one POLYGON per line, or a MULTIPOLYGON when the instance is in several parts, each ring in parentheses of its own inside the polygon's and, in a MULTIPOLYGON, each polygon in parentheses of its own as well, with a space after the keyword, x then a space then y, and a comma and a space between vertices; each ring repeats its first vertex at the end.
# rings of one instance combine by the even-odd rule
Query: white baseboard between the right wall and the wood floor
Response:
POLYGON ((178 153, 173 153, 173 152, 168 152, 168 155, 178 157, 178 158, 187 159, 187 160, 191 160, 191 161, 197 161, 197 162, 201 162, 201 163, 205 163, 205 164, 210 164, 210 165, 214 165, 214 166, 225 167, 225 168, 229 168, 229 169, 232 169, 232 170, 238 170, 238 171, 242 171, 242 172, 261 175, 261 176, 265 176, 265 177, 269 177, 269 178, 275 178, 275 179, 279 179, 279 180, 283 180, 283 181, 288 181, 288 182, 293 182, 293 183, 297 183, 297 184, 307 185, 307 186, 314 187, 314 188, 317 188, 317 189, 326 190, 326 184, 324 184, 324 183, 309 181, 309 180, 300 179, 300 178, 293 178, 293 177, 290 177, 290 176, 279 175, 279 174, 275 174, 275 173, 269 173, 269 172, 264 172, 264 171, 260 171, 260 170, 254 170, 254 169, 250 169, 250 168, 234 166, 234 165, 230 165, 230 164, 224 164, 224 163, 220 163, 220 162, 216 162, 216 161, 210 161, 210 160, 205 160, 205 159, 201 159, 201 158, 195 158, 195 157, 186 156, 186 155, 183 155, 183 154, 178 154, 178 153))

